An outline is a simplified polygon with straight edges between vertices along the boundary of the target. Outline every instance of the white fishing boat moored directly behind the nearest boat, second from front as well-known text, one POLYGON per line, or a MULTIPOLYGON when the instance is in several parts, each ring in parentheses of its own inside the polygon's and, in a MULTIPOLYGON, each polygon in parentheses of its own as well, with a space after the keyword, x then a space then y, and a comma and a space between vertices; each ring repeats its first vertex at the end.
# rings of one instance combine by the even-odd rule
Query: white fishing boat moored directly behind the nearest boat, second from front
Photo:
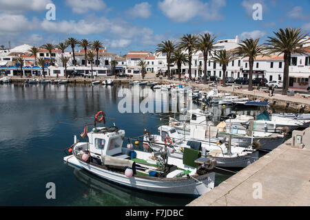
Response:
POLYGON ((230 141, 227 144, 227 140, 218 140, 216 144, 209 144, 204 140, 183 137, 176 129, 169 126, 161 126, 158 131, 159 135, 145 132, 143 147, 155 148, 158 151, 163 144, 168 143, 168 157, 175 159, 184 160, 184 152, 187 148, 199 151, 203 160, 215 159, 216 166, 219 167, 246 167, 258 159, 257 149, 260 146, 258 142, 247 147, 231 145, 230 141))

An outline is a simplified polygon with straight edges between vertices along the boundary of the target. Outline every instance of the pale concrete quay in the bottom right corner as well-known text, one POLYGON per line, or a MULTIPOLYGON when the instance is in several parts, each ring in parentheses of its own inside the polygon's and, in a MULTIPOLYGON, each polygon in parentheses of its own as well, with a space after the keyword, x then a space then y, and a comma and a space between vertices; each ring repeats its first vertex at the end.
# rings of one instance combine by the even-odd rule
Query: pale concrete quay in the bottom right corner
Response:
POLYGON ((310 127, 187 206, 310 206, 310 127))

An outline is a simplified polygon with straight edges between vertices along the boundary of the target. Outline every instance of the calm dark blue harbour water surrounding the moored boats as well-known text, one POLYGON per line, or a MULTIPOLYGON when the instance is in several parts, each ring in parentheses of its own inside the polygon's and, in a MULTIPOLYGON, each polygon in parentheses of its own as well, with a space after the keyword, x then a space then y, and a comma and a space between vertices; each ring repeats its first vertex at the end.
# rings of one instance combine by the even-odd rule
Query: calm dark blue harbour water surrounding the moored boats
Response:
MULTIPOLYGON (((167 114, 119 113, 120 89, 0 85, 0 206, 183 206, 192 201, 116 186, 63 163, 63 149, 100 110, 107 115, 107 125, 115 123, 126 137, 142 135, 145 128, 156 133, 167 114), (48 182, 56 185, 56 199, 45 197, 48 182)), ((210 111, 220 116, 242 110, 211 107, 210 111)), ((231 175, 216 173, 216 185, 231 175)))

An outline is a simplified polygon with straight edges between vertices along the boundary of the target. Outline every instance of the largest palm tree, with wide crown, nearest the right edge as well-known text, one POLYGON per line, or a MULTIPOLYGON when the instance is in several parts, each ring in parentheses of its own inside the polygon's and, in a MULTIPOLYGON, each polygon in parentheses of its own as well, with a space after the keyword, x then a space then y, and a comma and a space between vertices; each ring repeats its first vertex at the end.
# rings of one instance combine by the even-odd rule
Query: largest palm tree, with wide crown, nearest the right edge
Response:
POLYGON ((267 54, 278 53, 284 54, 284 70, 283 70, 283 89, 282 95, 287 95, 289 89, 289 65, 291 63, 291 54, 306 54, 302 45, 307 40, 303 40, 307 34, 304 34, 300 28, 285 28, 285 30, 278 30, 273 32, 276 37, 268 36, 267 43, 265 43, 265 50, 267 54))

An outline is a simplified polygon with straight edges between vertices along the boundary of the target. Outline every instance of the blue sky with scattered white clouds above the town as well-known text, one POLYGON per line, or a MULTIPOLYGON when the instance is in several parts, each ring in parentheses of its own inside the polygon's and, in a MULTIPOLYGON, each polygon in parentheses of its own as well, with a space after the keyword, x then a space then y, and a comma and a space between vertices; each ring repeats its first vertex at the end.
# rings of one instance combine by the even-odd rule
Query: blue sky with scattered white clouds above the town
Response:
POLYGON ((260 38, 279 28, 310 32, 310 1, 287 0, 0 0, 0 44, 59 43, 68 37, 100 40, 107 50, 126 54, 156 49, 183 34, 211 32, 217 39, 260 38), (48 3, 56 20, 48 21, 48 3), (262 20, 252 5, 262 5, 262 20))

